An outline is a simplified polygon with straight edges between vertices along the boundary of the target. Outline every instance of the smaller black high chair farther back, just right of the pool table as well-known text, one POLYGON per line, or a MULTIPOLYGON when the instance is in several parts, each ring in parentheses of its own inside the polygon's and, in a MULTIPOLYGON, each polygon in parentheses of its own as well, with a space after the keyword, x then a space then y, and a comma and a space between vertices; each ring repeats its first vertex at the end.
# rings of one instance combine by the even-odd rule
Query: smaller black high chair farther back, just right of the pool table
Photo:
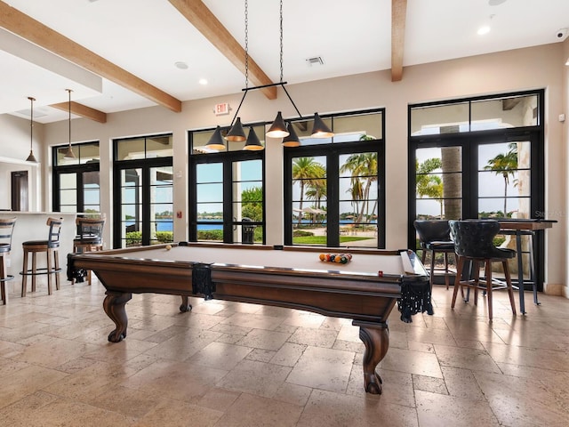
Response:
POLYGON ((432 287, 435 279, 435 272, 442 271, 445 276, 445 285, 448 289, 450 277, 455 272, 449 268, 448 254, 454 255, 454 242, 451 238, 451 228, 446 220, 416 220, 413 222, 415 230, 419 235, 419 246, 421 247, 421 262, 424 264, 427 253, 430 254, 430 286, 432 287), (443 254, 445 267, 437 268, 435 259, 437 254, 443 254))

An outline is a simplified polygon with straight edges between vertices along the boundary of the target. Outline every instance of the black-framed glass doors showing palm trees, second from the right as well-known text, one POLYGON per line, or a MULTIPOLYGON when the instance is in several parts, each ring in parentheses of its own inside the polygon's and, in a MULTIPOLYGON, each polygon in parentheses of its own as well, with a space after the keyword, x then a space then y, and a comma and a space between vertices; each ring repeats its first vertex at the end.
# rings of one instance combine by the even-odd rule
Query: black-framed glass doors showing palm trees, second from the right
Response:
POLYGON ((284 243, 385 246, 383 110, 327 118, 333 138, 309 136, 284 149, 284 243))

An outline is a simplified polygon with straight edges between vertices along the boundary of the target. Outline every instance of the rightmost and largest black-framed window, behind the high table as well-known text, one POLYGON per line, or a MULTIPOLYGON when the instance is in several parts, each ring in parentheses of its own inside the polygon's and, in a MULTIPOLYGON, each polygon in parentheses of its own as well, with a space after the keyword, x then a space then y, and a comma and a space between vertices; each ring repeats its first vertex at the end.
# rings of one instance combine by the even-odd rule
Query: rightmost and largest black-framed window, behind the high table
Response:
MULTIPOLYGON (((540 218, 543 91, 409 107, 409 247, 415 219, 540 218)), ((514 245, 514 239, 503 244, 514 245)), ((530 249, 540 254, 543 237, 530 249)), ((515 246, 512 246, 515 249, 515 246)), ((524 262, 529 265, 529 262, 524 262)), ((529 272, 528 272, 529 275, 529 272)))

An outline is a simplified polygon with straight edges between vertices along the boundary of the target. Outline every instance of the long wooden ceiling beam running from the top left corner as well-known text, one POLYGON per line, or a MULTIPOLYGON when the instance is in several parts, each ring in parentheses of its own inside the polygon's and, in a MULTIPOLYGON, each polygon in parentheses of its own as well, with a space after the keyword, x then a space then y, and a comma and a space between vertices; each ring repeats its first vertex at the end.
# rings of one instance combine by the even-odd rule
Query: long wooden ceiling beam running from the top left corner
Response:
POLYGON ((0 27, 50 52, 56 53, 60 57, 116 83, 116 85, 121 85, 134 93, 138 93, 140 96, 156 102, 156 104, 171 109, 176 113, 181 111, 181 101, 175 99, 172 95, 164 93, 123 68, 117 67, 112 62, 85 49, 81 44, 76 44, 68 37, 53 31, 52 28, 44 26, 41 22, 30 18, 25 13, 1 1, 0 27))

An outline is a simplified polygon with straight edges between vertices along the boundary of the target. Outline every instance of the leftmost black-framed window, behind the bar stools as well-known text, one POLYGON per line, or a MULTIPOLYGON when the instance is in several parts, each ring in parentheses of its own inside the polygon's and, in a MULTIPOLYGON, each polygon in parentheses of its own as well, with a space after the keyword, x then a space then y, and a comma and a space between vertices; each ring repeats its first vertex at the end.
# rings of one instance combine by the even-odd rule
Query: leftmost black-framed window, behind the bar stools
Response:
POLYGON ((73 145, 76 158, 65 158, 68 146, 53 147, 53 210, 100 214, 99 142, 73 145))

